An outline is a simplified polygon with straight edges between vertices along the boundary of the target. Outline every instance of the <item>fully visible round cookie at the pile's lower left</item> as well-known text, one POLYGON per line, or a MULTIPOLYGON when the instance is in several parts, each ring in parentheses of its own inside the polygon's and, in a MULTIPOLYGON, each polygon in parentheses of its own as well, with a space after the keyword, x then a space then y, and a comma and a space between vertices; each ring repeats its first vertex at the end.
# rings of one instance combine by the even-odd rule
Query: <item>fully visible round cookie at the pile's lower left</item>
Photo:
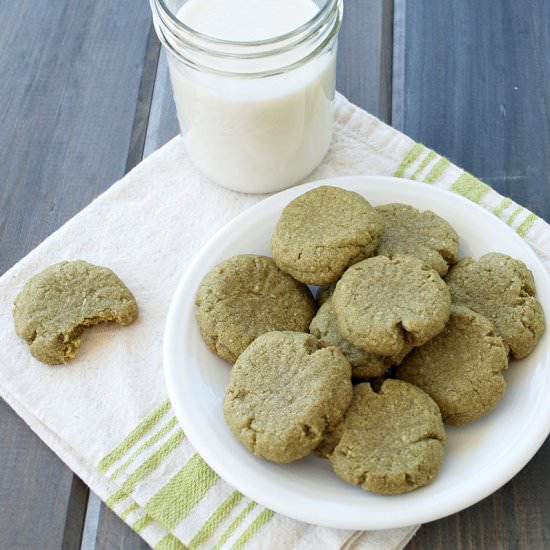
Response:
POLYGON ((269 332, 240 355, 223 405, 252 453, 287 463, 310 454, 341 421, 353 394, 351 367, 311 334, 269 332))

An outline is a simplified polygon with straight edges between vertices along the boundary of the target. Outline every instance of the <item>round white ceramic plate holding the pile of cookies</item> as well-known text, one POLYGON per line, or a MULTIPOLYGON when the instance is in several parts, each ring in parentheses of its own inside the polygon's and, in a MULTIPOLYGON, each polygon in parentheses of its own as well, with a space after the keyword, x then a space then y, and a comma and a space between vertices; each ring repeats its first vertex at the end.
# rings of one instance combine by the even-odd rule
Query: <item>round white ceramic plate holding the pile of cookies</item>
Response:
POLYGON ((235 254, 270 254, 282 209, 322 183, 363 194, 374 205, 403 202, 430 209, 460 236, 461 257, 497 251, 523 260, 538 297, 550 303, 549 276, 535 253, 508 226, 472 202, 426 184, 387 177, 348 177, 294 187, 244 212, 195 257, 173 298, 164 337, 168 393, 187 437, 229 484, 292 518, 344 529, 386 529, 432 521, 486 497, 512 478, 550 431, 550 330, 535 351, 506 372, 504 400, 486 417, 448 428, 445 463, 431 485, 399 496, 378 496, 346 484, 316 457, 277 465, 250 454, 227 427, 222 411, 230 366, 203 343, 193 299, 204 275, 235 254))

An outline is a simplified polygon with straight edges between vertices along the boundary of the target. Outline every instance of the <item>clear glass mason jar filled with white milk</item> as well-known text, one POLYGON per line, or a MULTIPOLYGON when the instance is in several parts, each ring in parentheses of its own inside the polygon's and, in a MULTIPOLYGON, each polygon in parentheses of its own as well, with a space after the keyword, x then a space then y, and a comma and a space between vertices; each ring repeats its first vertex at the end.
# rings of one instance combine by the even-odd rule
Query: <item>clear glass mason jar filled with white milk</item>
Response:
POLYGON ((245 193, 307 176, 331 139, 342 0, 151 0, 195 165, 245 193))

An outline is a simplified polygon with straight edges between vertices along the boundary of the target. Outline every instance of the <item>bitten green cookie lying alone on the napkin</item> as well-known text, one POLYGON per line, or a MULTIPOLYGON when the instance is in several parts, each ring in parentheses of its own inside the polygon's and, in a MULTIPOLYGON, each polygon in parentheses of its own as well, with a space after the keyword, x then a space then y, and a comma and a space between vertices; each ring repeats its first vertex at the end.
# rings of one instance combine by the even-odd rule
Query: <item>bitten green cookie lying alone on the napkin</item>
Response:
POLYGON ((13 308, 15 330, 48 365, 67 363, 86 327, 137 319, 132 293, 108 268, 82 260, 51 265, 31 277, 13 308))

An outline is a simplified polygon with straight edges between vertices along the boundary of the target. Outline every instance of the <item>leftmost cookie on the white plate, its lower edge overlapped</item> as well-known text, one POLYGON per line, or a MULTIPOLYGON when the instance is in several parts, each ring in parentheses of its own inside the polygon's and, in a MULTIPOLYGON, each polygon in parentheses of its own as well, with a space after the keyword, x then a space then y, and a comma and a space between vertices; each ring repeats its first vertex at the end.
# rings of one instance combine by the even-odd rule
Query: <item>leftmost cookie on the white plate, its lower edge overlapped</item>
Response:
POLYGON ((253 254, 218 264, 202 280, 195 303, 206 345, 230 363, 260 334, 306 332, 316 309, 305 285, 271 258, 253 254))

